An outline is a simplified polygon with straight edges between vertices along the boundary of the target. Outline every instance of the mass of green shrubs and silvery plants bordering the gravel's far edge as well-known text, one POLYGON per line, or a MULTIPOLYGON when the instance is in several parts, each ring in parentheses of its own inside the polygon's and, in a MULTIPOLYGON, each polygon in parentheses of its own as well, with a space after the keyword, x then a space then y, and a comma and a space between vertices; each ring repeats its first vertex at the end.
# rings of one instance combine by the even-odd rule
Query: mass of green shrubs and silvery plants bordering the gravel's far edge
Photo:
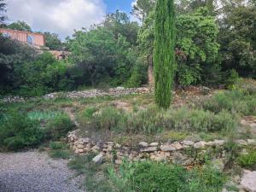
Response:
POLYGON ((20 112, 0 108, 0 150, 17 151, 65 137, 74 125, 60 112, 20 112))

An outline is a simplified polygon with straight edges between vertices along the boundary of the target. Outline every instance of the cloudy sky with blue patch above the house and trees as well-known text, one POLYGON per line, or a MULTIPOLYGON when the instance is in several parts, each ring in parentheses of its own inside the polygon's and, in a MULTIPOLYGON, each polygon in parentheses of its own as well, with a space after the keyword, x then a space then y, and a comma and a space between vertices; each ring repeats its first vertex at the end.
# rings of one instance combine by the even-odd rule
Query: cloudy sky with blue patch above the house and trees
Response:
MULTIPOLYGON (((33 31, 55 32, 62 39, 74 29, 101 23, 116 9, 131 13, 136 0, 6 0, 9 23, 24 20, 33 31)), ((131 15, 130 15, 131 16, 131 15)), ((132 19, 132 18, 131 18, 132 19)), ((134 19, 134 18, 133 18, 134 19)))

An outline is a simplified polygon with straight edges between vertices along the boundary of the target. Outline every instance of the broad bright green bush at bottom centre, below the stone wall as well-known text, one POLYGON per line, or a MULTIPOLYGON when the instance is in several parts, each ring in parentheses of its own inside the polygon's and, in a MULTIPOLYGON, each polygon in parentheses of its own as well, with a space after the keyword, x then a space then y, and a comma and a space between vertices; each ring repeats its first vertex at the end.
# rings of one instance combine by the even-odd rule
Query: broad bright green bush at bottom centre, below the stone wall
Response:
POLYGON ((110 169, 109 174, 116 191, 127 192, 218 192, 225 182, 223 173, 211 166, 187 171, 182 166, 152 161, 125 161, 118 172, 110 169))

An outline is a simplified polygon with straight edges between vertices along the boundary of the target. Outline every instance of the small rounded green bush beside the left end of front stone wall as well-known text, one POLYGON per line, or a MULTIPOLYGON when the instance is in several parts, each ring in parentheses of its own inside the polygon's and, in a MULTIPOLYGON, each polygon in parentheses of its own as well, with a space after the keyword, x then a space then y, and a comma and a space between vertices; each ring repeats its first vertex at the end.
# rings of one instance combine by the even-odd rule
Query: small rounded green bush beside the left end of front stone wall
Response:
POLYGON ((62 113, 50 119, 45 125, 46 138, 57 140, 61 137, 65 137, 68 131, 72 131, 75 125, 66 113, 62 113))

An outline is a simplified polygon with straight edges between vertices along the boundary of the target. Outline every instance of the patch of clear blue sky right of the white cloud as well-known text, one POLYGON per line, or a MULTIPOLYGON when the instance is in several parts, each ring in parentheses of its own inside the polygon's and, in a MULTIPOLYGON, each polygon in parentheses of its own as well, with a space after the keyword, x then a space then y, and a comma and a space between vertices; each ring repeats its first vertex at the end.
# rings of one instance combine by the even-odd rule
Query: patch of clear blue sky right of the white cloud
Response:
POLYGON ((116 9, 125 11, 126 13, 131 12, 132 0, 104 0, 107 4, 107 11, 114 12, 116 9))

